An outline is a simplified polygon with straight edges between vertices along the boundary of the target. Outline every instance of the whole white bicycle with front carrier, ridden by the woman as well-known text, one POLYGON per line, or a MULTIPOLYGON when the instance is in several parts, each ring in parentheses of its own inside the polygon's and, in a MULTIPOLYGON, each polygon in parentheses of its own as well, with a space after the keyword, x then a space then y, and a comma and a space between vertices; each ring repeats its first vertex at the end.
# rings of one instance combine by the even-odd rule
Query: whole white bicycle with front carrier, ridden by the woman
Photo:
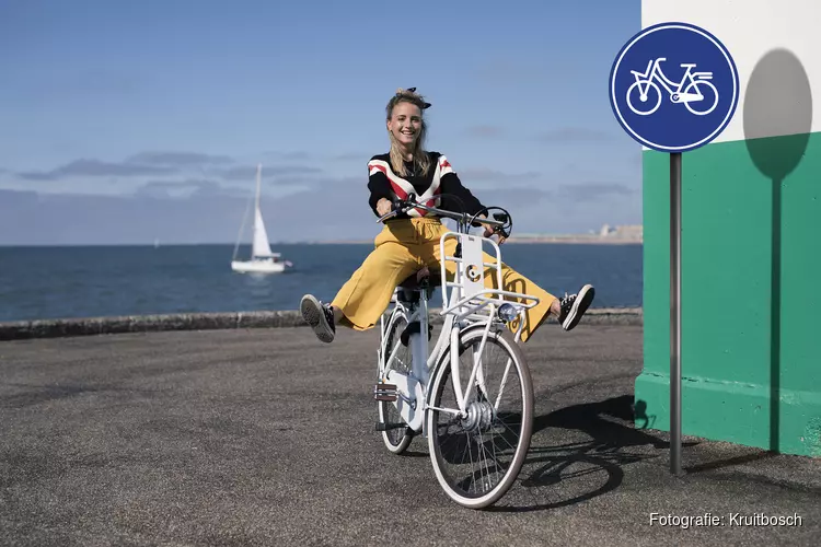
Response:
MULTIPOLYGON (((413 197, 380 221, 409 207, 455 220, 456 232, 440 238, 439 279, 423 268, 397 287, 392 306, 380 322, 374 398, 377 430, 388 450, 401 454, 414 437, 427 437, 433 472, 448 496, 463 507, 486 508, 512 486, 530 447, 533 386, 518 342, 524 311, 539 299, 505 291, 501 253, 492 238, 471 235, 476 216, 453 213, 416 203, 413 197), (451 256, 449 240, 456 240, 451 256), (486 263, 485 246, 495 260, 486 263), (446 264, 455 263, 453 281, 446 264), (488 274, 489 272, 489 274, 488 274), (485 278, 496 276, 486 289, 485 278), (428 301, 442 290, 444 317, 432 351, 428 301), (516 334, 509 325, 516 326, 516 334), (502 400, 502 395, 509 396, 502 400)), ((507 211, 482 222, 509 234, 507 211), (506 232, 506 228, 508 232, 506 232)))

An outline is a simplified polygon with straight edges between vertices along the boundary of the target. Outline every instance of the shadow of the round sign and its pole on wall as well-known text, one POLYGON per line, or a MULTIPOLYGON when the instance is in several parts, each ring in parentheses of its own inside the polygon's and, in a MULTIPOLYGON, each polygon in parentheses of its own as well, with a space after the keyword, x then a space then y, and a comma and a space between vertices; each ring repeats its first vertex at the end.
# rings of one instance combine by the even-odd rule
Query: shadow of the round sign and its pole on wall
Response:
POLYGON ((755 65, 744 94, 743 116, 747 151, 772 186, 770 450, 779 452, 782 186, 801 163, 812 130, 810 81, 791 51, 773 49, 755 65))

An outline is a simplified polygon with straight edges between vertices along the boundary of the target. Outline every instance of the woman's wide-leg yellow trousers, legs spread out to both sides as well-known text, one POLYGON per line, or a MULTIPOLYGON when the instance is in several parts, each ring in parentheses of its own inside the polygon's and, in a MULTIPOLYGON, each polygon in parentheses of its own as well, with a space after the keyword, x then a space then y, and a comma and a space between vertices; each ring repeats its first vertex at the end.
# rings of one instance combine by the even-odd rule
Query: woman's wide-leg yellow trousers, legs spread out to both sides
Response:
MULTIPOLYGON (((431 276, 440 271, 439 241, 448 228, 437 218, 397 220, 386 223, 374 240, 374 249, 350 279, 339 289, 331 305, 344 317, 340 324, 355 330, 372 328, 388 309, 396 287, 427 266, 431 276)), ((447 256, 452 256, 455 240, 446 242, 447 256), (449 248, 450 247, 450 248, 449 248)), ((485 261, 495 257, 485 253, 485 261)), ((448 261, 446 271, 452 281, 456 264, 448 261)), ((556 296, 517 272, 502 261, 502 290, 539 298, 539 304, 525 312, 521 340, 527 341, 544 322, 556 296)), ((485 286, 497 289, 495 270, 485 271, 485 286)), ((514 325, 518 328, 518 324, 514 325)))

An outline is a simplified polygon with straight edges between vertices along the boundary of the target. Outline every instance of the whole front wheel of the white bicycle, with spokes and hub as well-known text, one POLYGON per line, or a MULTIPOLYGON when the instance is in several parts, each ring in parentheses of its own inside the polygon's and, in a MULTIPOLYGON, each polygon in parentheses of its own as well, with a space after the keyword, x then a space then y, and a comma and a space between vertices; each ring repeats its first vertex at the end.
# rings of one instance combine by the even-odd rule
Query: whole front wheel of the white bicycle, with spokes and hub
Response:
POLYGON ((439 484, 456 503, 483 509, 498 501, 519 475, 533 428, 533 384, 521 348, 506 328, 492 329, 471 389, 466 389, 483 328, 461 336, 459 383, 465 395, 459 415, 446 351, 431 383, 428 410, 430 458, 439 484))

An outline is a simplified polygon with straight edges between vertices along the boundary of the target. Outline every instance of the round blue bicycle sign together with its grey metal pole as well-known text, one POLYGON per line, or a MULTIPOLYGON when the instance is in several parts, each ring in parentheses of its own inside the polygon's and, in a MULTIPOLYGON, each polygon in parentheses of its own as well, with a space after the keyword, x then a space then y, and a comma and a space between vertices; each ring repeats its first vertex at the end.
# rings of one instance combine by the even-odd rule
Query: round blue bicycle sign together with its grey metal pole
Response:
MULTIPOLYGON (((616 120, 636 142, 670 154, 670 472, 677 476, 682 474, 682 153, 708 144, 724 131, 738 106, 739 90, 738 69, 724 44, 708 31, 681 21, 657 23, 636 33, 610 69, 610 105, 616 120), (691 91, 671 90, 662 63, 686 68, 678 89, 691 91)), ((647 176, 646 168, 643 173, 647 176)), ((645 179, 644 184, 652 183, 645 179)), ((657 256, 655 243, 649 256, 654 260, 657 256)))

